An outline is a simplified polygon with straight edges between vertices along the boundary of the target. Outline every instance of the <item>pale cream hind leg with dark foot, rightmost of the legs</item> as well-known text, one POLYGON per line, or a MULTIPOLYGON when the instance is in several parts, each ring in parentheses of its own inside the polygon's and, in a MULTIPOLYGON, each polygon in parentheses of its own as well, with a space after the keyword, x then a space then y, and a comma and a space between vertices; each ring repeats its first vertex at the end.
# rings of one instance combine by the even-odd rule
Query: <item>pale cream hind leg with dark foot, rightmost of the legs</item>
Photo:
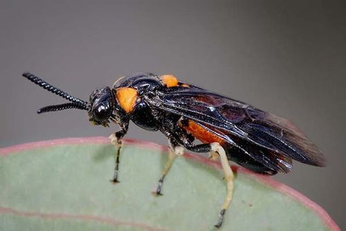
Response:
POLYGON ((230 168, 230 164, 228 163, 228 158, 226 156, 226 152, 224 148, 221 147, 221 145, 218 142, 211 143, 210 147, 212 151, 216 151, 217 154, 219 154, 220 156, 221 166, 222 166, 222 169, 224 169, 224 175, 227 182, 226 198, 225 198, 224 204, 221 207, 219 222, 215 225, 215 227, 219 228, 222 224, 222 221, 224 221, 224 214, 230 205, 230 201, 232 200, 233 187, 234 187, 233 185, 234 175, 233 175, 232 169, 230 168))

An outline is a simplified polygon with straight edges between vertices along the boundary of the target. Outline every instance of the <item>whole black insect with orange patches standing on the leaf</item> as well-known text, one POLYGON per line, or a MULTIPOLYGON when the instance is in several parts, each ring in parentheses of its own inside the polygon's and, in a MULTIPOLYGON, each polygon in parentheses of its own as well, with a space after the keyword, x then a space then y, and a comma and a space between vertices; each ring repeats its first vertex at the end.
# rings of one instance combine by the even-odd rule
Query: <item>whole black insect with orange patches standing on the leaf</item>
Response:
POLYGON ((121 139, 129 121, 149 131, 161 131, 170 142, 170 156, 155 194, 161 194, 163 179, 176 155, 183 149, 209 152, 219 157, 228 192, 219 214, 220 227, 233 194, 233 172, 229 160, 260 174, 290 172, 292 160, 325 166, 320 150, 291 122, 251 105, 185 84, 173 75, 138 73, 122 77, 113 87, 96 89, 89 102, 75 98, 31 73, 24 77, 69 103, 43 107, 37 113, 82 109, 93 124, 120 125, 109 137, 118 145, 113 182, 118 182, 121 139), (198 139, 202 144, 194 144, 198 139))

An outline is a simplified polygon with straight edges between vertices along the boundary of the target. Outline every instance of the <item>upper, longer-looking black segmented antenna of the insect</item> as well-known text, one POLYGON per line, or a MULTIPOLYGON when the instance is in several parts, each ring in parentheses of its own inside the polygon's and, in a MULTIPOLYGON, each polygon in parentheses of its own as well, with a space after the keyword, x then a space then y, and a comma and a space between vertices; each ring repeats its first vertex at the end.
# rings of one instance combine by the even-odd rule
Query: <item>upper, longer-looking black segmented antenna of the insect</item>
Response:
POLYGON ((55 86, 48 84, 48 82, 41 80, 39 77, 33 75, 32 73, 26 72, 26 73, 23 73, 23 76, 26 77, 31 82, 33 82, 34 84, 37 84, 41 86, 43 89, 46 89, 47 91, 51 91, 51 93, 55 93, 55 95, 59 95, 60 97, 65 98, 66 100, 69 100, 71 102, 75 102, 78 104, 88 105, 88 102, 75 98, 73 95, 69 95, 68 93, 65 93, 64 91, 57 89, 55 86))

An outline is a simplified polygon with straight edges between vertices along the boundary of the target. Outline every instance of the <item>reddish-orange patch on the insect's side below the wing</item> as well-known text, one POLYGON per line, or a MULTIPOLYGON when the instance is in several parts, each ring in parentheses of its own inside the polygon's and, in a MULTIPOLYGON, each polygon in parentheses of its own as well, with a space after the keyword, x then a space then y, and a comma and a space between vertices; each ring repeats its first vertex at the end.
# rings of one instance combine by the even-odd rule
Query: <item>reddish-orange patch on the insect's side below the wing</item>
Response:
POLYGON ((215 134, 209 132, 208 130, 201 127, 196 122, 189 120, 188 126, 183 127, 188 131, 192 136, 195 138, 201 140, 201 142, 208 144, 210 142, 223 142, 224 140, 222 138, 219 138, 215 134))

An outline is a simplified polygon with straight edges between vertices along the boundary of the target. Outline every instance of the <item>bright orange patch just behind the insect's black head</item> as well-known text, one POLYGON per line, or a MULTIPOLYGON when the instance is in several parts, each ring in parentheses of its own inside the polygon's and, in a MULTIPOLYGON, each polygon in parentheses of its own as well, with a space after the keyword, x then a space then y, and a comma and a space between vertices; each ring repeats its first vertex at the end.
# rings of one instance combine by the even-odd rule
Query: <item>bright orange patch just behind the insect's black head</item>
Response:
POLYGON ((131 89, 130 87, 116 89, 116 99, 118 100, 120 107, 122 107, 126 113, 130 113, 134 110, 137 95, 138 92, 136 89, 131 89))

